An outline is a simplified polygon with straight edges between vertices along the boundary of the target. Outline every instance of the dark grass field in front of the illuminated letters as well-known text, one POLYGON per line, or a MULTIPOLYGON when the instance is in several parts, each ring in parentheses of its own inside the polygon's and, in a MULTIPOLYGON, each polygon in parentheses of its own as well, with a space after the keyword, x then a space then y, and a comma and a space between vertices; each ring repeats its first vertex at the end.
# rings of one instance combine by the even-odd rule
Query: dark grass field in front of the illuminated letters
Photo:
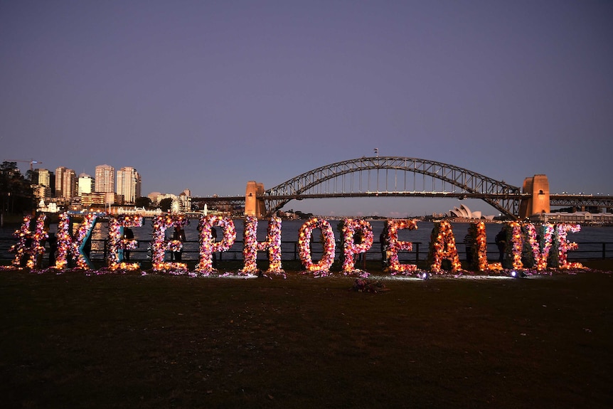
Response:
POLYGON ((0 272, 2 407, 612 407, 612 274, 378 279, 0 272))

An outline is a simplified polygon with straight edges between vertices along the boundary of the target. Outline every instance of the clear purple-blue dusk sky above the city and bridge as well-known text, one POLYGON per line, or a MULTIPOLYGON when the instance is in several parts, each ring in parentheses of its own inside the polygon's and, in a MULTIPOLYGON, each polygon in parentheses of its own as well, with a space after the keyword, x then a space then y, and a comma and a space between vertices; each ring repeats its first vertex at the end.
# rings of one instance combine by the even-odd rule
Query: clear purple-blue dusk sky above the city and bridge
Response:
MULTIPOLYGON (((247 181, 271 188, 377 148, 613 194, 611 21, 613 2, 590 0, 0 0, 0 161, 92 176, 132 166, 144 195, 240 196, 247 181)), ((286 209, 417 216, 461 203, 286 209)))

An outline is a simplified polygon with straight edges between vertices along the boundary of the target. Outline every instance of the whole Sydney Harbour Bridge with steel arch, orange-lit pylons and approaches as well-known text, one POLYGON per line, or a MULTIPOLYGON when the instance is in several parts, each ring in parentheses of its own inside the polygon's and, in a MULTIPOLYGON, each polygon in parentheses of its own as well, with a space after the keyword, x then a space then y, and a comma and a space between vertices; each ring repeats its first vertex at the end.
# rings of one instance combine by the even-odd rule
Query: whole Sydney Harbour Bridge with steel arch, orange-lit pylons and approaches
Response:
POLYGON ((522 187, 438 161, 403 156, 362 157, 336 162, 264 190, 247 183, 245 196, 196 197, 209 208, 244 207, 245 215, 266 218, 292 200, 348 197, 444 197, 481 199, 509 218, 548 212, 550 206, 613 208, 613 198, 550 194, 547 177, 526 178, 522 187))

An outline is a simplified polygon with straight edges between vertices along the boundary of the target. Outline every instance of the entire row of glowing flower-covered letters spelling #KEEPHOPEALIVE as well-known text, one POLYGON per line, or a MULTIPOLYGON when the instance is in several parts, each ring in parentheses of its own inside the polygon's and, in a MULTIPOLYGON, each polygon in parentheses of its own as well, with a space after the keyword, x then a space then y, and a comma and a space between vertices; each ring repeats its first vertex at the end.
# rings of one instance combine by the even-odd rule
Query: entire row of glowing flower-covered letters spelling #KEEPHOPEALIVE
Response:
MULTIPOLYGON (((78 228, 73 236, 70 231, 70 216, 67 213, 62 213, 59 216, 58 222, 58 254, 55 261, 55 269, 64 270, 68 266, 69 257, 75 260, 76 267, 82 270, 90 269, 90 260, 83 253, 83 248, 92 229, 97 221, 94 214, 83 216, 83 223, 78 228)), ((36 260, 40 255, 45 253, 45 248, 42 245, 43 240, 48 238, 45 231, 46 215, 40 214, 36 220, 36 228, 32 226, 32 216, 25 216, 23 224, 19 230, 16 230, 14 235, 18 238, 18 243, 11 246, 10 251, 16 253, 11 264, 14 267, 20 267, 26 262, 26 267, 33 268, 36 265, 36 260), (33 228, 33 230, 31 230, 33 228), (31 241, 31 244, 28 243, 31 241)), ((109 255, 107 257, 109 270, 135 270, 139 268, 138 263, 126 263, 122 261, 122 250, 134 250, 137 247, 137 240, 129 240, 122 238, 122 228, 124 227, 139 227, 142 226, 142 216, 121 216, 119 218, 111 217, 109 221, 109 255)), ((152 265, 154 271, 185 271, 187 265, 182 262, 164 262, 165 251, 180 251, 183 248, 183 243, 180 240, 165 240, 164 233, 167 228, 172 226, 183 227, 188 223, 184 216, 166 215, 157 216, 153 220, 154 231, 152 233, 151 248, 153 250, 152 265)), ((370 223, 359 219, 348 218, 343 221, 343 265, 344 274, 356 272, 353 256, 360 253, 366 253, 373 244, 373 232, 370 223), (362 240, 355 243, 356 233, 361 233, 362 240)), ((236 232, 233 221, 230 218, 221 216, 206 216, 201 218, 199 222, 199 243, 200 243, 200 260, 196 271, 198 272, 215 272, 212 267, 212 255, 216 252, 229 250, 235 243, 236 232), (218 226, 223 230, 223 240, 219 242, 213 240, 211 228, 218 226)), ((416 265, 400 264, 398 262, 398 252, 411 251, 412 243, 399 241, 398 230, 400 229, 416 229, 417 223, 410 220, 389 220, 385 224, 385 236, 388 241, 386 257, 389 260, 389 266, 385 271, 391 272, 392 275, 398 272, 415 272, 416 265)), ((524 256, 530 260, 536 271, 547 270, 548 267, 558 267, 559 269, 568 270, 571 268, 583 269, 579 262, 568 262, 567 253, 578 248, 577 243, 572 243, 567 240, 568 233, 577 233, 580 231, 580 225, 572 224, 557 224, 553 225, 545 223, 543 225, 533 225, 532 223, 519 223, 516 221, 506 223, 507 234, 507 255, 510 260, 508 267, 513 271, 521 270, 524 267, 522 262, 522 253, 525 250, 527 254, 524 256)), ((268 251, 269 268, 266 273, 282 274, 282 253, 281 253, 281 219, 271 218, 268 222, 267 239, 262 242, 257 241, 257 218, 247 216, 245 218, 245 235, 243 256, 244 265, 240 274, 251 274, 257 271, 257 252, 268 251)), ((474 267, 479 271, 499 271, 503 270, 501 263, 487 262, 487 243, 485 223, 473 223, 469 227, 469 234, 474 243, 474 254, 476 262, 474 267)), ((335 240, 329 222, 311 218, 307 223, 304 223, 299 231, 299 255, 304 267, 309 272, 319 272, 322 275, 329 273, 329 269, 334 262, 335 240), (323 239, 324 254, 321 260, 314 263, 311 258, 311 238, 313 230, 321 230, 323 239)), ((430 271, 442 272, 442 260, 450 260, 452 262, 452 271, 461 270, 457 248, 452 232, 452 227, 447 221, 435 224, 432 230, 430 240, 430 271)), ((532 267, 531 267, 532 268, 532 267)))

